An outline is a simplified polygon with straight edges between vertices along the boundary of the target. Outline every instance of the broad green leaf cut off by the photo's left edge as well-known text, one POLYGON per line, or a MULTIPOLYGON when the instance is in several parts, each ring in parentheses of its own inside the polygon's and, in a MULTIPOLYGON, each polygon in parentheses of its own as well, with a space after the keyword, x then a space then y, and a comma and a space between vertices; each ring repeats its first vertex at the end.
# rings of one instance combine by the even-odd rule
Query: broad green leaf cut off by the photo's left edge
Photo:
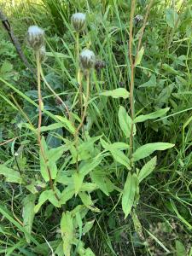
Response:
POLYGON ((0 165, 0 175, 5 177, 6 182, 9 183, 22 183, 20 172, 8 168, 7 166, 0 165))

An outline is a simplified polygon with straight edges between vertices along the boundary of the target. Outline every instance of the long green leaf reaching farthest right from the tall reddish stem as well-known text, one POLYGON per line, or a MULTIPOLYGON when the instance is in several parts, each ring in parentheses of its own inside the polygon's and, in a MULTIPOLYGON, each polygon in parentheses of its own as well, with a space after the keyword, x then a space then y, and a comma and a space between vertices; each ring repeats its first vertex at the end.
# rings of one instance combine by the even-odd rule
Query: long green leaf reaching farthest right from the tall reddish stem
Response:
POLYGON ((174 147, 174 144, 171 143, 148 143, 141 146, 140 148, 137 148, 133 154, 133 160, 137 161, 154 153, 156 150, 166 150, 172 147, 174 147))

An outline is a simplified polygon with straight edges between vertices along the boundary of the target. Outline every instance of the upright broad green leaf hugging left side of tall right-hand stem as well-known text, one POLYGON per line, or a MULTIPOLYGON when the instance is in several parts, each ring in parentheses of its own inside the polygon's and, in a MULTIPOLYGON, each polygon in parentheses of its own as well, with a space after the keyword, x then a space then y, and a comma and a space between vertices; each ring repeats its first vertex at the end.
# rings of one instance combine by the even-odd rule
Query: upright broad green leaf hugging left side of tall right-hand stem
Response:
MULTIPOLYGON (((120 106, 119 108, 119 113, 118 113, 118 117, 119 117, 119 125, 120 125, 120 129, 124 132, 124 135, 126 138, 130 137, 131 134, 131 117, 128 115, 128 113, 126 113, 126 110, 124 107, 120 106)), ((134 125, 133 127, 133 134, 136 134, 136 126, 134 125)))

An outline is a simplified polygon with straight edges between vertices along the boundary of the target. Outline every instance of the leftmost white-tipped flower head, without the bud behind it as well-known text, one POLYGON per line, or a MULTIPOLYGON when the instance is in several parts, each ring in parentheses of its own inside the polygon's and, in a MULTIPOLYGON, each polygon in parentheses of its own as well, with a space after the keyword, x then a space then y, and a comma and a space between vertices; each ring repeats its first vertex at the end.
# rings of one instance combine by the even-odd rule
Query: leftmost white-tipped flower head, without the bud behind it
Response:
POLYGON ((44 45, 44 30, 38 26, 30 26, 27 40, 32 49, 38 50, 44 45))

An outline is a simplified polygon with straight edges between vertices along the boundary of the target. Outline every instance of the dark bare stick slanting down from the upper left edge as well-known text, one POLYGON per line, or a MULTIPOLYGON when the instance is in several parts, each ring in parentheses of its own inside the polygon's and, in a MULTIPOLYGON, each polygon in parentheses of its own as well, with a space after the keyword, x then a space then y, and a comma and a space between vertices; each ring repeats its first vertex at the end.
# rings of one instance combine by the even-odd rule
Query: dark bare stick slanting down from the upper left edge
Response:
POLYGON ((29 62, 26 60, 26 56, 23 54, 22 49, 20 47, 20 42, 19 40, 15 37, 15 33, 13 32, 9 20, 8 18, 3 15, 3 11, 0 10, 0 20, 2 20, 2 24, 5 28, 5 30, 9 33, 9 38, 11 39, 12 43, 15 46, 15 49, 18 53, 18 55, 20 56, 20 60, 23 61, 23 63, 25 64, 25 66, 33 73, 33 75, 36 78, 36 73, 35 71, 32 69, 31 65, 29 64, 29 62))

